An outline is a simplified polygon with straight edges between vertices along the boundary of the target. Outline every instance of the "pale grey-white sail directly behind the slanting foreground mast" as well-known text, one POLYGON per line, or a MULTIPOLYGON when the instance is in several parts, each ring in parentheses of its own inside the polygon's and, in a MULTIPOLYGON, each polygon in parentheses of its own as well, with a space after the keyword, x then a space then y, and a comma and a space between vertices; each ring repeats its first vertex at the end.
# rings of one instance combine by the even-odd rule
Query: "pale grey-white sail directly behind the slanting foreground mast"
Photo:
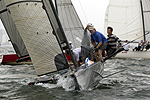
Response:
POLYGON ((80 47, 84 28, 71 0, 56 0, 56 6, 67 40, 72 41, 73 48, 80 47))

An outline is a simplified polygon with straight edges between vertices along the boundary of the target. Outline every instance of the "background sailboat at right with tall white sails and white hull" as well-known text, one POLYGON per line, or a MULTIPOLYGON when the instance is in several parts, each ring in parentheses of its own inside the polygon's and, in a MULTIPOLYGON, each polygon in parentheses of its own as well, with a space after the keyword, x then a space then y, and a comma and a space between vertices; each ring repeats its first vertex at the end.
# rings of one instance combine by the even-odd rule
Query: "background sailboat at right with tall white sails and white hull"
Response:
MULTIPOLYGON (((141 42, 150 41, 150 1, 149 0, 110 0, 105 14, 104 31, 114 28, 114 34, 120 40, 128 40, 130 49, 116 55, 115 58, 150 59, 150 50, 133 51, 141 42)), ((122 42, 124 45, 124 42, 122 42)))

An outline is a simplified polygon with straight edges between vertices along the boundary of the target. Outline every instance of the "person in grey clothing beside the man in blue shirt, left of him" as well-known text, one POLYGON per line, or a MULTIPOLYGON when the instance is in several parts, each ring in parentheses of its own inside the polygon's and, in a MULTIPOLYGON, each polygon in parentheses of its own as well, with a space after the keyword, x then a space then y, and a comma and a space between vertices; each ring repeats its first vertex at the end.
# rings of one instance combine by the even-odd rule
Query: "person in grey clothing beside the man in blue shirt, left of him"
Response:
POLYGON ((91 23, 87 24, 81 42, 81 55, 83 62, 85 62, 85 59, 87 57, 89 57, 90 60, 94 61, 94 53, 93 49, 91 48, 91 34, 89 32, 89 27, 93 27, 93 25, 91 23))

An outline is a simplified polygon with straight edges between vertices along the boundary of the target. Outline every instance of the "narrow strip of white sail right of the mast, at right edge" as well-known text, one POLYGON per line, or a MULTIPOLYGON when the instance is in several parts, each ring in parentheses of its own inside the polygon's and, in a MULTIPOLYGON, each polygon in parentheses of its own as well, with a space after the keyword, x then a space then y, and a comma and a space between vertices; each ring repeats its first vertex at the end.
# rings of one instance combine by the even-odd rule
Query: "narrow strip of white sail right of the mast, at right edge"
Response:
MULTIPOLYGON (((150 33, 150 0, 141 0, 145 34, 150 33)), ((146 41, 150 41, 150 34, 145 35, 146 41)))

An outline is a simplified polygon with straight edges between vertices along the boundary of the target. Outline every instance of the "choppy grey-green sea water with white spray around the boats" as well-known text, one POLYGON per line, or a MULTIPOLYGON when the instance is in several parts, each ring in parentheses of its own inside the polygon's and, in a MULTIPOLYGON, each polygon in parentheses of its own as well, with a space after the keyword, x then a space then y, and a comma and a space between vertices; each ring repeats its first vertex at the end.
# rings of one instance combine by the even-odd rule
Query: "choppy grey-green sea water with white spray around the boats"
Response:
POLYGON ((85 91, 75 90, 73 79, 61 76, 57 84, 28 86, 37 78, 32 65, 0 65, 0 100, 150 100, 150 60, 110 59, 103 76, 123 69, 85 91))

